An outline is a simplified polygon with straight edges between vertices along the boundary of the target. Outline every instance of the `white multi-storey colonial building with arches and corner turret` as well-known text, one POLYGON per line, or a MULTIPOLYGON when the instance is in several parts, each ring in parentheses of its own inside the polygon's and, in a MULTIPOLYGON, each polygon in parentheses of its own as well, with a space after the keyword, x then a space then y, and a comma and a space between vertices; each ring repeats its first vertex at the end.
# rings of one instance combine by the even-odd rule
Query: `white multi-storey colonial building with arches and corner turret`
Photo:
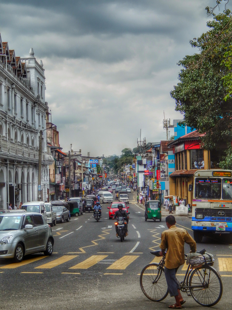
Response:
POLYGON ((37 200, 39 132, 42 139, 41 200, 49 195, 45 76, 43 63, 21 59, 0 34, 0 209, 37 200))

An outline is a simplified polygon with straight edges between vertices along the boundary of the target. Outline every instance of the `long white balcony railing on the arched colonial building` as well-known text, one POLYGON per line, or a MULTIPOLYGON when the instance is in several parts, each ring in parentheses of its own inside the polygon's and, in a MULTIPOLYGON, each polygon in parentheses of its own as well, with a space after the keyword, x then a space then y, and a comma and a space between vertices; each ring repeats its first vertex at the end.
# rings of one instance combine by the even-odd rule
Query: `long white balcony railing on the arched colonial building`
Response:
MULTIPOLYGON (((39 160, 38 150, 11 141, 6 141, 3 138, 0 138, 0 152, 7 153, 8 155, 39 160)), ((42 154, 42 160, 44 160, 44 154, 42 154)))

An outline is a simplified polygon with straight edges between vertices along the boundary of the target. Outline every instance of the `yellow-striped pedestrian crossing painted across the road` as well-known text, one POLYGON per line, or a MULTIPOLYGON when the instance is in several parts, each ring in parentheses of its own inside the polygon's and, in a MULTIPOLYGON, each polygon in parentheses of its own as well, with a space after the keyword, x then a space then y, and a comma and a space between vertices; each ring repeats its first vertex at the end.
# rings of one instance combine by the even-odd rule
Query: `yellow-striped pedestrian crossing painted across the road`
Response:
MULTIPOLYGON (((126 268, 128 268, 131 264, 133 264, 135 262, 136 259, 138 259, 141 255, 124 255, 119 259, 109 259, 112 258, 112 254, 114 253, 105 253, 105 255, 91 255, 89 257, 87 257, 86 259, 83 259, 82 256, 79 255, 62 255, 59 258, 56 259, 52 259, 49 262, 45 262, 47 261, 47 259, 51 259, 52 256, 36 256, 34 258, 28 258, 27 257, 21 262, 21 263, 9 263, 6 264, 4 266, 1 266, 1 272, 0 273, 4 273, 4 269, 16 269, 20 267, 23 267, 25 265, 28 265, 32 268, 32 270, 35 269, 34 272, 32 273, 41 273, 42 270, 44 269, 52 269, 52 268, 56 268, 58 266, 62 266, 62 264, 65 264, 67 262, 71 263, 71 266, 69 266, 68 268, 66 267, 65 264, 65 268, 67 269, 71 269, 71 270, 76 270, 76 271, 81 271, 81 270, 86 270, 86 269, 90 269, 97 265, 100 266, 101 264, 101 268, 104 268, 106 270, 106 272, 109 270, 109 272, 105 273, 105 274, 114 274, 114 273, 110 273, 110 270, 118 270, 118 271, 123 271, 126 268), (81 262, 77 263, 77 260, 81 257, 81 262), (108 259, 105 259, 108 258, 108 259), (42 264, 40 264, 39 266, 33 266, 33 264, 40 262, 40 260, 43 262, 42 264), (106 267, 105 264, 110 264, 110 266, 106 267), (39 269, 39 270, 38 270, 39 269), (38 271, 38 272, 37 272, 38 271)), ((229 255, 228 255, 229 256, 229 255)), ((232 255, 230 255, 232 256, 232 255)), ((160 257, 155 257, 150 263, 159 263, 161 260, 160 257)), ((143 268, 144 266, 142 266, 143 268)), ((214 267, 219 271, 219 272, 228 272, 227 276, 232 276, 232 257, 217 257, 215 259, 214 262, 214 267)), ((187 270, 188 265, 184 264, 182 267, 179 268, 179 271, 183 270, 184 272, 187 270)), ((67 271, 66 269, 66 271, 67 271)), ((31 270, 31 269, 30 269, 31 270)), ((61 272, 61 273, 75 273, 75 274, 79 274, 79 272, 61 272)), ((63 270, 62 270, 63 271, 63 270)), ((27 272, 22 272, 22 273, 27 273, 27 272)), ((31 271, 30 271, 31 273, 31 271)), ((178 272, 179 273, 179 272, 178 272)), ((121 273, 115 273, 115 274, 121 274, 121 273)), ((223 276, 223 275, 222 275, 223 276)), ((224 275, 226 276, 226 275, 224 275)))

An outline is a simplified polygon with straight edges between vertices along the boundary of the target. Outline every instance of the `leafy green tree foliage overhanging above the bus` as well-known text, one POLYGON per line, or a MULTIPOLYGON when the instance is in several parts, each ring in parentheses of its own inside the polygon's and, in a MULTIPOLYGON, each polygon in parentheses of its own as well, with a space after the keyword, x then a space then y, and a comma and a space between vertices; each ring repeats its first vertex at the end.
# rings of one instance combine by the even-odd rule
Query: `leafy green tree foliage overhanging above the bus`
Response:
MULTIPOLYGON (((213 149, 232 139, 232 15, 230 10, 215 15, 206 9, 213 15, 207 23, 209 31, 190 41, 199 52, 178 62, 183 67, 180 82, 170 94, 175 110, 184 114, 183 124, 204 133, 203 147, 213 149)), ((226 152, 229 156, 229 148, 226 152)))

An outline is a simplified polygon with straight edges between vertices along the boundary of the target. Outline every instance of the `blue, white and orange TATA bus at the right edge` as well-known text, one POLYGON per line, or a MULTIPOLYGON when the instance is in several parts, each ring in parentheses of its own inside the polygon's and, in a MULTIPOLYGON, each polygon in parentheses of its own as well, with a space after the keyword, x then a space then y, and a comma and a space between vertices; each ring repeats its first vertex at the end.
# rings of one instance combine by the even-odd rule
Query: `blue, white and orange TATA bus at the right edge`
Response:
POLYGON ((196 242, 203 236, 232 232, 231 170, 194 173, 191 227, 196 242))

